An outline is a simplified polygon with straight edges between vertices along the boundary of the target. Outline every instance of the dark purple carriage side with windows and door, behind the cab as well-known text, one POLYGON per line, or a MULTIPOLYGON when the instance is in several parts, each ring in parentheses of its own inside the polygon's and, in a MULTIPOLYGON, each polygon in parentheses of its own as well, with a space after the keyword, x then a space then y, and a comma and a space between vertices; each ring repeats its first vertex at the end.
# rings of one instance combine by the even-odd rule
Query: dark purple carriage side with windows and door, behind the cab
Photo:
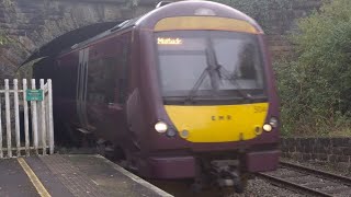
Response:
POLYGON ((118 134, 125 131, 131 42, 131 31, 113 34, 57 59, 55 115, 60 123, 72 126, 71 132, 84 129, 99 138, 118 141, 118 134), (89 50, 84 67, 80 62, 82 50, 89 50))

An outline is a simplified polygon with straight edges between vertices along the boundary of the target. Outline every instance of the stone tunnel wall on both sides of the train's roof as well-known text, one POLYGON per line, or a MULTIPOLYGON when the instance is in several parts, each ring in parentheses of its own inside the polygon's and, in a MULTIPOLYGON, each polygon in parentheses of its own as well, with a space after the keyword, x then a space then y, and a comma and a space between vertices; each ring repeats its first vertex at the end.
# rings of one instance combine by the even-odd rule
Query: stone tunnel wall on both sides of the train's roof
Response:
MULTIPOLYGON (((121 21, 146 13, 159 0, 0 0, 0 30, 13 43, 0 46, 0 79, 52 39, 100 22, 121 21)), ((285 39, 295 19, 318 9, 321 0, 291 0, 290 10, 270 10, 269 46, 273 59, 291 51, 285 39)), ((238 8, 240 9, 240 8, 238 8)), ((257 19, 258 21, 260 19, 257 19)))

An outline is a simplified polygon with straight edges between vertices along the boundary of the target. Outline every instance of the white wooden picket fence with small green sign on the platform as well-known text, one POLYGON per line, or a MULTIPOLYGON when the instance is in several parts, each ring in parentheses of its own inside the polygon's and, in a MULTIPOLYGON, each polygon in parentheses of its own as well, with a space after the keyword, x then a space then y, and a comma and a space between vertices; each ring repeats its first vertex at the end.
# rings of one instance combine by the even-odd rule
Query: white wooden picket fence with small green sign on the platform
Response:
POLYGON ((35 80, 31 88, 4 80, 0 89, 0 158, 54 153, 54 121, 52 80, 35 80), (20 115, 22 115, 20 117, 20 115), (31 127, 30 127, 31 126, 31 127))

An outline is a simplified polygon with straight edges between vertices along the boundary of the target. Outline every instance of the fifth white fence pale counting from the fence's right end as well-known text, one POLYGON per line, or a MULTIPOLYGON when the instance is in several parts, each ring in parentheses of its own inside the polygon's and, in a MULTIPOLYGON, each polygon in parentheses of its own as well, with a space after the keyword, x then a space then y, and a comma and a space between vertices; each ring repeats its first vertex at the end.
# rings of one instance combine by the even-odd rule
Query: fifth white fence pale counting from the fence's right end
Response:
POLYGON ((15 144, 18 148, 18 157, 21 155, 21 141, 20 141, 20 111, 19 111, 19 81, 13 80, 13 90, 14 90, 14 120, 15 120, 15 144))

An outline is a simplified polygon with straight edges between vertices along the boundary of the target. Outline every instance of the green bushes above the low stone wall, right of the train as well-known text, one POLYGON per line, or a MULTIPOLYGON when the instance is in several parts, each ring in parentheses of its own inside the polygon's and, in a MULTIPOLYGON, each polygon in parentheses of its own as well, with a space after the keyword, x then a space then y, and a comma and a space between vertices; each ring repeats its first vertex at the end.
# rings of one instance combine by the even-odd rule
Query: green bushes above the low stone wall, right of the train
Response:
POLYGON ((298 20, 295 61, 278 62, 285 132, 330 134, 350 126, 351 1, 332 0, 298 20))

